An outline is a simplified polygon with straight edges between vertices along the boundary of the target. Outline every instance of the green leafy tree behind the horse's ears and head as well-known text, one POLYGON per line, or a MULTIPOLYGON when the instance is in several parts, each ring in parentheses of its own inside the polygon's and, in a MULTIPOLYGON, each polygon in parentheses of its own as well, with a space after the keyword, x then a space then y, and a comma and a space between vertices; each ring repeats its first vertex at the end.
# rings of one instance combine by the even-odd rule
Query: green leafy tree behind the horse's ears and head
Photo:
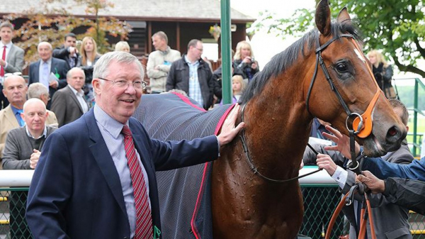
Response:
MULTIPOLYGON (((418 60, 425 59, 425 11, 421 0, 335 0, 331 12, 336 17, 346 6, 363 33, 365 51, 382 50, 402 72, 425 77, 418 60)), ((298 9, 290 18, 278 19, 264 12, 255 28, 268 28, 276 35, 300 35, 314 27, 314 9, 298 9)))

